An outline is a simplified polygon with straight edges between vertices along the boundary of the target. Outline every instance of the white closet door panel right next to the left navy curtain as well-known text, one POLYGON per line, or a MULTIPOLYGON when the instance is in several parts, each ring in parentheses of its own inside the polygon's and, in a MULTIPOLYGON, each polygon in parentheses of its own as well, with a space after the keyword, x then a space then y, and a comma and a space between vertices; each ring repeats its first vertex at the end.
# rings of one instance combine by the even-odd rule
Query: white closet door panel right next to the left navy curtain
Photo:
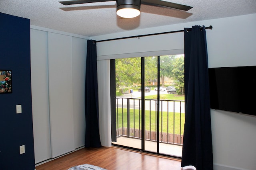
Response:
POLYGON ((75 129, 75 148, 84 146, 85 139, 85 67, 87 39, 72 37, 73 72, 73 114, 75 129))

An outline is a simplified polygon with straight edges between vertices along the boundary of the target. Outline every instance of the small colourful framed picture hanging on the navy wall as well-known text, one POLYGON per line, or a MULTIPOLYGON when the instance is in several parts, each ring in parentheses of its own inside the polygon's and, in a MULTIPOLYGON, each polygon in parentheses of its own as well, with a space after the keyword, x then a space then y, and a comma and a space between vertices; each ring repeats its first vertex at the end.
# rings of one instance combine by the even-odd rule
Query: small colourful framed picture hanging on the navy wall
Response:
POLYGON ((0 69, 0 94, 12 93, 12 70, 0 69))

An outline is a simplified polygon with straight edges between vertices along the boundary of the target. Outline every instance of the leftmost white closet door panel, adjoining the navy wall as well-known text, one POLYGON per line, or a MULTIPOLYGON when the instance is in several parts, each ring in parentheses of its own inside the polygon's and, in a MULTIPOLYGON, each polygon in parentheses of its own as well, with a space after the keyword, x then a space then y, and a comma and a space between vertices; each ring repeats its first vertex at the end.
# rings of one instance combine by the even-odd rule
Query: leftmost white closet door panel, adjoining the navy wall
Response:
POLYGON ((51 158, 47 32, 30 29, 35 163, 51 158))

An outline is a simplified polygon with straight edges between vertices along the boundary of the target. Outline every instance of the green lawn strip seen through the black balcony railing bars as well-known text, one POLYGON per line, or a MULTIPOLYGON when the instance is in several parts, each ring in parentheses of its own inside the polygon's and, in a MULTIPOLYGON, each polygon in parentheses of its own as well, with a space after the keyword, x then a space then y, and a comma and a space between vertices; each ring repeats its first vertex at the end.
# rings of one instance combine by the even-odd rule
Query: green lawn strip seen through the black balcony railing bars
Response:
MULTIPOLYGON (((168 94, 171 95, 171 94, 168 94)), ((116 110, 117 111, 117 110, 116 110)), ((168 129, 168 133, 173 133, 174 134, 181 134, 183 135, 184 132, 184 122, 185 122, 185 117, 184 113, 167 113, 166 111, 160 112, 160 132, 166 132, 168 129), (168 126, 167 126, 167 121, 168 121, 168 126), (162 125, 161 125, 162 122, 162 125), (167 128, 168 127, 168 128, 167 128)), ((124 108, 122 111, 122 108, 118 108, 118 117, 116 118, 118 123, 118 128, 124 126, 127 127, 127 109, 124 108), (122 120, 122 117, 124 119, 122 120)), ((146 130, 151 130, 151 131, 156 131, 156 111, 150 111, 146 110, 145 114, 145 128, 146 130), (151 118, 150 118, 151 117, 151 118), (151 120, 151 123, 150 123, 151 120)), ((130 128, 134 128, 141 130, 141 111, 139 113, 139 109, 130 109, 130 128), (135 118, 134 118, 135 117, 135 118), (140 123, 139 123, 140 122, 140 123)))

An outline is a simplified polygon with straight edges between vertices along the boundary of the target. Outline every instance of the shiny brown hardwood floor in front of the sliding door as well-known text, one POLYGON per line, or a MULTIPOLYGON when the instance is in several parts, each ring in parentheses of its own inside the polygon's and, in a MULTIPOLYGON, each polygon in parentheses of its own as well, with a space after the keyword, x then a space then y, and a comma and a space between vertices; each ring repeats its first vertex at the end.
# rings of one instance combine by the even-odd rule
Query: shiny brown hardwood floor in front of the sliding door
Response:
POLYGON ((36 166, 36 170, 67 170, 92 164, 107 170, 181 170, 180 160, 142 154, 115 147, 83 148, 36 166))

